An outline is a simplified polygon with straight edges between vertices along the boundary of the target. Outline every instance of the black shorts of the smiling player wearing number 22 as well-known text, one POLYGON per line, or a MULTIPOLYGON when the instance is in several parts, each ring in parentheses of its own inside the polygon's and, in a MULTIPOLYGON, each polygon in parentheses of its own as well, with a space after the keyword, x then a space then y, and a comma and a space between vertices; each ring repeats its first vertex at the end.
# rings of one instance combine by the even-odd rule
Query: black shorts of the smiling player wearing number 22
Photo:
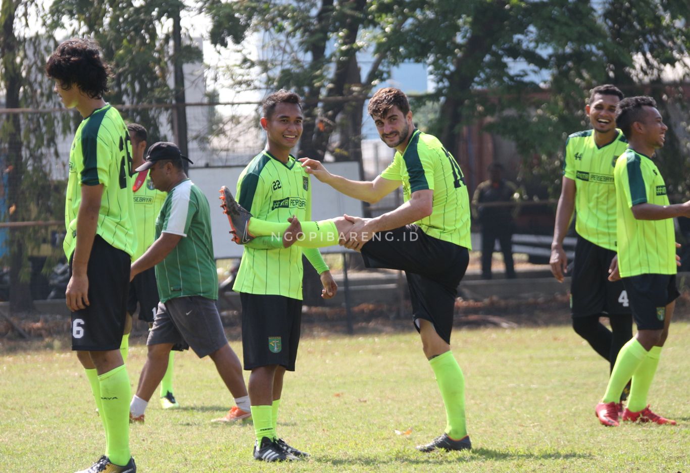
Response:
POLYGON ((285 296, 239 293, 242 301, 244 369, 281 365, 295 371, 302 301, 285 296))

